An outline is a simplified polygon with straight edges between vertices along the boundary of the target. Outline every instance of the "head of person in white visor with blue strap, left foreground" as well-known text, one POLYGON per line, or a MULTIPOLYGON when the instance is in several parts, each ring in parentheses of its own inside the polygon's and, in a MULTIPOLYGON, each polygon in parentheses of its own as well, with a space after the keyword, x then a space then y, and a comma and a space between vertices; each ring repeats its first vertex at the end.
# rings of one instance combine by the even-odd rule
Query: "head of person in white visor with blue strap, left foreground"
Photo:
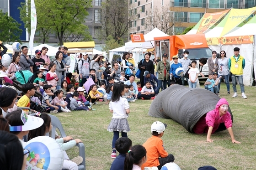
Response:
POLYGON ((22 110, 8 113, 5 118, 10 124, 10 133, 15 134, 19 138, 23 148, 26 146, 26 142, 23 141, 23 136, 27 135, 30 130, 39 128, 43 125, 42 118, 33 118, 22 110))

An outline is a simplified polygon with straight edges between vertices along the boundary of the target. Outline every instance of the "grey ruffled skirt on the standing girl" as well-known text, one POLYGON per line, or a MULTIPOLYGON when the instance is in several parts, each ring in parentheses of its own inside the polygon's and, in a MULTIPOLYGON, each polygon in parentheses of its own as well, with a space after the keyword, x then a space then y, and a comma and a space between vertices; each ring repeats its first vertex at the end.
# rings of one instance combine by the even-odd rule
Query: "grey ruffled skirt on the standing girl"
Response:
POLYGON ((129 132, 130 127, 127 118, 112 118, 110 124, 107 127, 107 131, 129 132))

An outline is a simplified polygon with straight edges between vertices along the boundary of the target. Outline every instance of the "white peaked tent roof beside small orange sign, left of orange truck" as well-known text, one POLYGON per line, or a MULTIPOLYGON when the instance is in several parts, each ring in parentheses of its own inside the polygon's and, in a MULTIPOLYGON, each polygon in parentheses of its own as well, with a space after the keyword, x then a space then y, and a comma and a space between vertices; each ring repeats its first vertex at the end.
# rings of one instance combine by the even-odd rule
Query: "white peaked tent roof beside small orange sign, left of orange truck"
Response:
POLYGON ((125 48, 131 50, 133 48, 154 48, 154 38, 155 37, 162 37, 162 36, 169 36, 164 32, 160 31, 158 28, 154 28, 152 31, 144 35, 145 42, 126 42, 125 48))

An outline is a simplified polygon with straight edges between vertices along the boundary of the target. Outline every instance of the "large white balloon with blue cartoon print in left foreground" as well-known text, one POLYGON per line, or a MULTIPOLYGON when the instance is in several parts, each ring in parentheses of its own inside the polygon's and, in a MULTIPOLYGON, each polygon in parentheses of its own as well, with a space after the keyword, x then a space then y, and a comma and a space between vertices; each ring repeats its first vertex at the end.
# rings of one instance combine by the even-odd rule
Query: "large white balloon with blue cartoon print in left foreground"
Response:
POLYGON ((27 142, 24 149, 30 151, 26 170, 61 170, 63 151, 58 142, 49 136, 38 136, 27 142))

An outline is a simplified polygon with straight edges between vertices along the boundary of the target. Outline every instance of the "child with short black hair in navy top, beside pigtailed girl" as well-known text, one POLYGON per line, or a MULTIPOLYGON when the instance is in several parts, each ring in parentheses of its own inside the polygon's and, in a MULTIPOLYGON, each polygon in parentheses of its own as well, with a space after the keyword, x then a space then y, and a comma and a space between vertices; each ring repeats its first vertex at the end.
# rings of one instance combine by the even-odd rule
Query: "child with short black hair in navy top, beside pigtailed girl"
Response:
POLYGON ((126 137, 121 137, 117 139, 115 147, 117 152, 119 152, 119 155, 112 162, 110 170, 123 170, 126 154, 132 147, 132 140, 126 137))

